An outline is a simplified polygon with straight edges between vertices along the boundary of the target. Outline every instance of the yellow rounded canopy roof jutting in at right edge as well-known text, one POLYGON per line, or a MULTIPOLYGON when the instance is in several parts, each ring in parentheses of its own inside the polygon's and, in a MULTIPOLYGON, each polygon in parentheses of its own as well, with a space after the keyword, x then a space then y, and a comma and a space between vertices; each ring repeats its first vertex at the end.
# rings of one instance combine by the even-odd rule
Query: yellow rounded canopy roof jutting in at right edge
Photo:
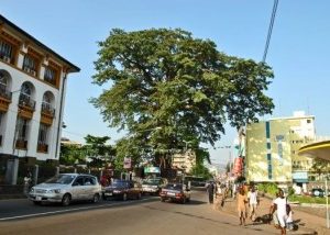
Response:
POLYGON ((330 161, 330 141, 305 145, 298 150, 298 155, 330 161))

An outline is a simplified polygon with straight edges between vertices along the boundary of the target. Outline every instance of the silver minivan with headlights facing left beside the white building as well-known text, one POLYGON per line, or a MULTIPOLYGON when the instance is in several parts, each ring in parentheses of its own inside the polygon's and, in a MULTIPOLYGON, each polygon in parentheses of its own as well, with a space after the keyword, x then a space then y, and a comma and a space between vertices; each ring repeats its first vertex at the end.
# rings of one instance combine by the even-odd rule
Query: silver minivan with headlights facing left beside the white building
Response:
POLYGON ((28 197, 34 204, 61 202, 63 205, 69 205, 72 201, 80 200, 98 202, 101 192, 101 186, 95 176, 59 174, 32 187, 28 197))

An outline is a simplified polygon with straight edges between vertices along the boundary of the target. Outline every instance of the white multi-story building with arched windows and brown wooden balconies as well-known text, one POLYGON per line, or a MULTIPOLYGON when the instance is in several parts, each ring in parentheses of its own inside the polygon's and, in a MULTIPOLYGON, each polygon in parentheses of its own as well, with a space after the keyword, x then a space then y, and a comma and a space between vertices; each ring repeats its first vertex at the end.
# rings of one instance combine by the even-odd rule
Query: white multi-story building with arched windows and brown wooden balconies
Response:
POLYGON ((0 15, 2 160, 58 159, 66 79, 79 70, 0 15))

